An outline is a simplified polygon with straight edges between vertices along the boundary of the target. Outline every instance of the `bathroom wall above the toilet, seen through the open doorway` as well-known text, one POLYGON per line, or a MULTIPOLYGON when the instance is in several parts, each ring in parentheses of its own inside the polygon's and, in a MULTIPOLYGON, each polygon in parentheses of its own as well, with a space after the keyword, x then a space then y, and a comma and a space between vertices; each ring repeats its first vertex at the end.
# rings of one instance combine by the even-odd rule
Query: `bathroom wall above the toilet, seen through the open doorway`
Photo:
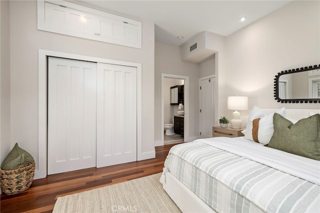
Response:
POLYGON ((175 85, 183 85, 183 79, 175 79, 175 78, 164 78, 163 79, 163 108, 164 115, 163 121, 164 123, 172 123, 172 116, 177 115, 176 111, 178 109, 177 105, 171 105, 171 86, 175 85))

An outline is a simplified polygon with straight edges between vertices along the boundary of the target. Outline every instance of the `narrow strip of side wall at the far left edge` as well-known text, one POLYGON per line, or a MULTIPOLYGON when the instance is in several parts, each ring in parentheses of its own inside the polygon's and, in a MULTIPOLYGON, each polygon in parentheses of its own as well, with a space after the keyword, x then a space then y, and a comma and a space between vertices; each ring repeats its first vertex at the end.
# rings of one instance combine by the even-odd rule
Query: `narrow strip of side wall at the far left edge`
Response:
POLYGON ((9 1, 0 1, 0 164, 10 146, 10 30, 9 1))

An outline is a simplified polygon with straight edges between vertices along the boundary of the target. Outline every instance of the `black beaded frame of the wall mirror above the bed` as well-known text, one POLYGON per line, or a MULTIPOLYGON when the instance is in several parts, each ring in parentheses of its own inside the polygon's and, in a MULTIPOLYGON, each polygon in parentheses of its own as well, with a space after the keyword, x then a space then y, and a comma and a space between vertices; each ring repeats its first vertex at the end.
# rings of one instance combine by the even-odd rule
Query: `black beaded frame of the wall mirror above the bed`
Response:
POLYGON ((290 74, 290 73, 295 73, 295 72, 301 72, 301 71, 308 71, 308 70, 313 70, 313 69, 318 69, 320 68, 319 65, 313 65, 313 66, 304 66, 301 68, 296 68, 296 69, 289 69, 289 70, 284 70, 281 72, 278 72, 277 75, 275 75, 274 78, 274 87, 273 87, 273 96, 274 99, 276 99, 278 102, 281 103, 320 103, 320 98, 303 98, 303 99, 281 99, 279 98, 279 77, 283 74, 290 74))

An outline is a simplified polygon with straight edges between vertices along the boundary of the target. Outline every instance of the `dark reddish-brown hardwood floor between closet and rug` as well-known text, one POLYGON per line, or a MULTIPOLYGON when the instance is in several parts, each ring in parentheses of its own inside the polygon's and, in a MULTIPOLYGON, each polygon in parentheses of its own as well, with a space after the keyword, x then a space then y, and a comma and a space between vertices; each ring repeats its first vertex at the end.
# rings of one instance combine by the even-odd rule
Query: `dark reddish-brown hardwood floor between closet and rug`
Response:
POLYGON ((155 158, 48 175, 25 191, 0 196, 0 212, 52 212, 59 196, 111 185, 162 171, 170 145, 155 147, 155 158))

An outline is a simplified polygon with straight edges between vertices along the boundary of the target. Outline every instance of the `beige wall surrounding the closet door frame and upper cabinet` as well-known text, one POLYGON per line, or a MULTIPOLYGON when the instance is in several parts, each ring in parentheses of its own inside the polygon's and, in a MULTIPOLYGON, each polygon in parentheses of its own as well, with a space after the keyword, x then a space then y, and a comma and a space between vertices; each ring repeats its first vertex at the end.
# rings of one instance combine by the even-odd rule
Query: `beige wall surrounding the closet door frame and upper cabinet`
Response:
POLYGON ((142 49, 126 47, 37 30, 36 1, 10 1, 11 146, 38 157, 38 49, 46 49, 141 63, 141 151, 154 154, 154 24, 142 25, 142 49))

